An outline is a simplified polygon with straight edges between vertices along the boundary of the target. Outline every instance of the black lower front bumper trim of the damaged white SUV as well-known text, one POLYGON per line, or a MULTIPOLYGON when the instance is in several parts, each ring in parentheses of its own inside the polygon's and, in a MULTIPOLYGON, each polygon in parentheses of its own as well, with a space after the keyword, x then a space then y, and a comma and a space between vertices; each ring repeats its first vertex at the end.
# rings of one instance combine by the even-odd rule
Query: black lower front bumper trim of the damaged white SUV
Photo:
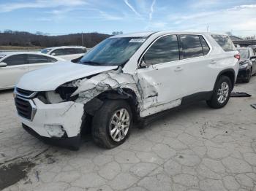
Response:
POLYGON ((45 144, 51 144, 59 147, 64 147, 72 150, 78 150, 80 147, 80 134, 74 137, 67 137, 63 136, 61 138, 49 138, 45 136, 40 136, 36 131, 29 126, 22 123, 22 127, 26 130, 29 134, 36 137, 40 141, 43 141, 45 144))

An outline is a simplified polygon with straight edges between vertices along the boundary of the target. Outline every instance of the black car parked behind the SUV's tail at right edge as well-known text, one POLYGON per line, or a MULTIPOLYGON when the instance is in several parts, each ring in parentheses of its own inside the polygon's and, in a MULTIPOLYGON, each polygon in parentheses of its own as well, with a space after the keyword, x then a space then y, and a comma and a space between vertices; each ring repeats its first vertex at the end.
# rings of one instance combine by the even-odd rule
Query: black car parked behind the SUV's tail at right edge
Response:
POLYGON ((249 82, 252 75, 256 74, 256 55, 251 47, 238 48, 241 60, 239 61, 238 80, 249 82))

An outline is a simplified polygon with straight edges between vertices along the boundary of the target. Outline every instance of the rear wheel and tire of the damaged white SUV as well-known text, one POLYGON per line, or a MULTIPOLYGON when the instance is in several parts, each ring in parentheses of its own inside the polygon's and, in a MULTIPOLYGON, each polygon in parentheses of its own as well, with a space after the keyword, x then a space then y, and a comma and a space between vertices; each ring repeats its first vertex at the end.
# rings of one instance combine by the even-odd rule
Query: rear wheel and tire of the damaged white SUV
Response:
POLYGON ((211 99, 206 101, 208 106, 214 109, 224 107, 230 99, 232 83, 229 77, 221 76, 214 87, 211 99))

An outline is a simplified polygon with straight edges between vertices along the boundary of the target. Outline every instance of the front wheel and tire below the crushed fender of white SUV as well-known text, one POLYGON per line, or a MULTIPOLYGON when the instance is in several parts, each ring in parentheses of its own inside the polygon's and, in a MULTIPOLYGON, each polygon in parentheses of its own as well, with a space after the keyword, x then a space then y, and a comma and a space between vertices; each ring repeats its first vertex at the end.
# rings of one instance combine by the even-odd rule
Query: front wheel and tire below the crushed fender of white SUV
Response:
POLYGON ((111 149, 126 141, 132 127, 132 112, 127 101, 108 100, 94 114, 91 134, 99 147, 111 149))

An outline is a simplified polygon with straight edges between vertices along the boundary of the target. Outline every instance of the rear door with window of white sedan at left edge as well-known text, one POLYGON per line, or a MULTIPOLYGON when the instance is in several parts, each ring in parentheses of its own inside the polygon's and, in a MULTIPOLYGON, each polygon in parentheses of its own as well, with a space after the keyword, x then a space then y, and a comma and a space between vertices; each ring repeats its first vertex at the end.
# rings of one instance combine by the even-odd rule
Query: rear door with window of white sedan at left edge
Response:
POLYGON ((40 69, 44 66, 50 66, 56 61, 57 61, 56 59, 50 58, 46 55, 29 54, 28 55, 29 71, 40 69))

